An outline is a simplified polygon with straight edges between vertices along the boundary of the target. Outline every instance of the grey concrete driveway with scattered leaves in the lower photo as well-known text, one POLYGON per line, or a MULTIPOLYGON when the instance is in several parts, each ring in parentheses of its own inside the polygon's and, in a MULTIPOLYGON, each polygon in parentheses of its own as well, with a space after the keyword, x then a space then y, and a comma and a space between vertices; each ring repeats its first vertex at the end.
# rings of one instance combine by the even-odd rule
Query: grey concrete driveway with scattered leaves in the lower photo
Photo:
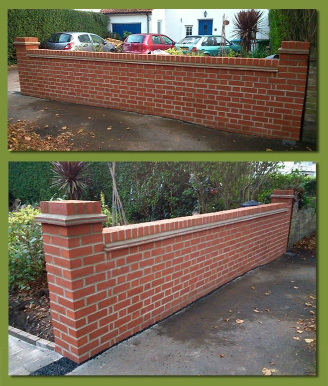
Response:
POLYGON ((315 375, 315 291, 315 257, 286 253, 69 375, 315 375))

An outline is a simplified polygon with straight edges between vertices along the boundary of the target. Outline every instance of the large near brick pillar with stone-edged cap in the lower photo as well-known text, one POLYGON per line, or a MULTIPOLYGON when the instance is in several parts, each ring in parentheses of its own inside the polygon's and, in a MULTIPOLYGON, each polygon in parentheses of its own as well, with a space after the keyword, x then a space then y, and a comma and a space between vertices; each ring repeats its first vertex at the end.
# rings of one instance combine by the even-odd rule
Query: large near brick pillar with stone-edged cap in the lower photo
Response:
POLYGON ((56 351, 81 363, 101 346, 95 333, 98 282, 107 277, 98 266, 103 268, 105 260, 102 222, 107 217, 94 201, 45 201, 40 207, 35 219, 42 223, 56 351))

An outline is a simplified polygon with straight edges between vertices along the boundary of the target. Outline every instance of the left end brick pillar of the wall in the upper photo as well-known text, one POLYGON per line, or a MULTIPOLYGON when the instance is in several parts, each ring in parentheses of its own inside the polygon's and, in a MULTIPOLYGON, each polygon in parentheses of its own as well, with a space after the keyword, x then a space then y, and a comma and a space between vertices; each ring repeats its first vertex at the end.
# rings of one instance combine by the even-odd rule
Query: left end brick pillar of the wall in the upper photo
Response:
POLYGON ((13 45, 16 48, 20 93, 26 95, 25 83, 22 81, 22 79, 26 79, 29 68, 26 60, 26 52, 28 50, 38 49, 40 42, 37 37, 16 37, 13 45))

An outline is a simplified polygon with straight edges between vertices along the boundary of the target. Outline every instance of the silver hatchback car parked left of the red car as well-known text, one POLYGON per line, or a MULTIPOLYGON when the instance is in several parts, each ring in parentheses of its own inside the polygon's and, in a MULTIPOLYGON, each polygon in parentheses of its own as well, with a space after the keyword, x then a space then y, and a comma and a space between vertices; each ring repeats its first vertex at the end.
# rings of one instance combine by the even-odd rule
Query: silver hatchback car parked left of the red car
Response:
POLYGON ((44 44, 46 49, 65 51, 93 51, 95 46, 100 51, 115 52, 112 44, 90 32, 56 32, 44 44))

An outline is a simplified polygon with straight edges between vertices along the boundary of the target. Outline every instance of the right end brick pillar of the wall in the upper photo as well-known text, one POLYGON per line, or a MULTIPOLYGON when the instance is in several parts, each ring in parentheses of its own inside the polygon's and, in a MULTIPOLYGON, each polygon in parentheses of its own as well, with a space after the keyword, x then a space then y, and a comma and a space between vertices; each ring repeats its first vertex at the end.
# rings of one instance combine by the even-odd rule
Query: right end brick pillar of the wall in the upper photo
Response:
MULTIPOLYGON (((279 48, 279 78, 286 79, 283 89, 284 108, 281 113, 283 130, 289 132, 291 140, 299 140, 304 109, 306 82, 309 64, 310 43, 283 41, 279 48)), ((278 102, 281 97, 277 98, 278 102)))

